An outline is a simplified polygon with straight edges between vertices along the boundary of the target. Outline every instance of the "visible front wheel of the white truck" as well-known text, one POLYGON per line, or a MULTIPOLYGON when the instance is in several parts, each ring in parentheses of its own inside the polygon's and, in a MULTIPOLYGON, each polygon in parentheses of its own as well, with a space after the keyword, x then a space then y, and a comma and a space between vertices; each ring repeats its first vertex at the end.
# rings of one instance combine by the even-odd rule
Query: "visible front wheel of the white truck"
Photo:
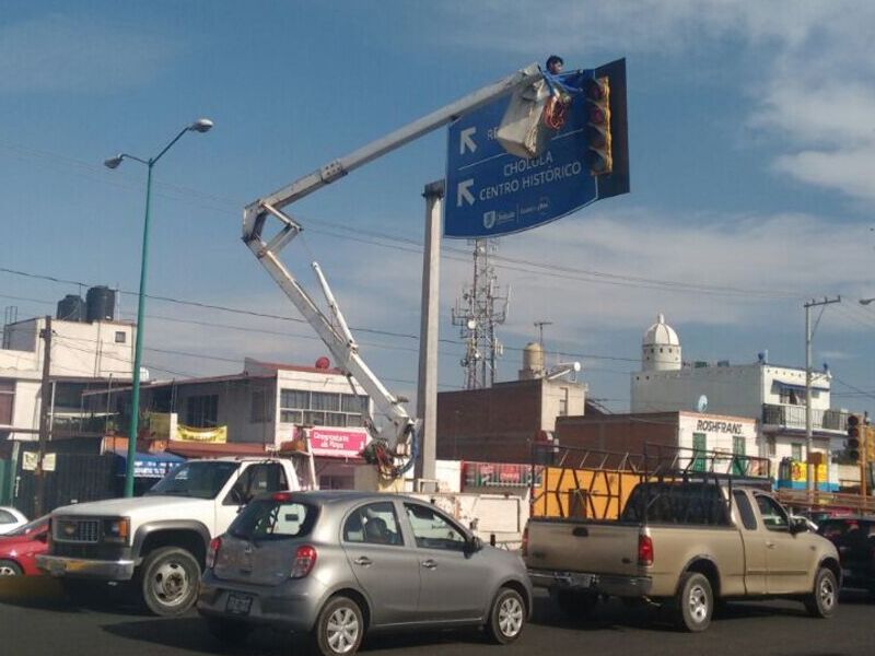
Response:
POLYGON ((186 612, 197 599, 199 582, 198 561, 178 547, 155 549, 141 566, 143 601, 156 616, 175 617, 186 612))

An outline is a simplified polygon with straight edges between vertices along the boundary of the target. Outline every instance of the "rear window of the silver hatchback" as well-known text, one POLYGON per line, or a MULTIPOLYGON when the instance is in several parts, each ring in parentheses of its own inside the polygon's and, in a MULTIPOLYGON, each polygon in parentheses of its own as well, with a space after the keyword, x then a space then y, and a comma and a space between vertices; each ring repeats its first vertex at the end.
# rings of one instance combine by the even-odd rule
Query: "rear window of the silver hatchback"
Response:
POLYGON ((247 505, 228 529, 247 540, 288 540, 308 536, 318 508, 296 500, 262 499, 247 505))

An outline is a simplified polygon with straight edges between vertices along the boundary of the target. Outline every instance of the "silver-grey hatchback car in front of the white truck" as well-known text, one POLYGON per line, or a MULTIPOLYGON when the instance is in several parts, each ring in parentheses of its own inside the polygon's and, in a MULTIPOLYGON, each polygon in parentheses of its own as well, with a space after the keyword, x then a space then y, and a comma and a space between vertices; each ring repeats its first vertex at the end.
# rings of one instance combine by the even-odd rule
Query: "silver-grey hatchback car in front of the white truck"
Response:
POLYGON ((326 656, 365 632, 483 626, 508 644, 532 612, 516 553, 485 547, 408 496, 278 492, 249 503, 210 544, 198 611, 225 643, 257 624, 305 632, 326 656))

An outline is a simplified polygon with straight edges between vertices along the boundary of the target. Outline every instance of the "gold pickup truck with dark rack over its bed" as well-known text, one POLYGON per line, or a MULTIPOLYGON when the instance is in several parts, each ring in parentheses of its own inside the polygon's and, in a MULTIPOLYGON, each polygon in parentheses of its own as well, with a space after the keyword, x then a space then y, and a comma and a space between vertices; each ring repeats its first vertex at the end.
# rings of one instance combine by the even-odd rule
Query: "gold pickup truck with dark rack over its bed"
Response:
POLYGON ((532 518, 523 558, 569 614, 599 595, 644 599, 693 632, 719 599, 793 598, 818 618, 839 600, 835 546, 769 493, 726 480, 639 483, 618 520, 532 518))

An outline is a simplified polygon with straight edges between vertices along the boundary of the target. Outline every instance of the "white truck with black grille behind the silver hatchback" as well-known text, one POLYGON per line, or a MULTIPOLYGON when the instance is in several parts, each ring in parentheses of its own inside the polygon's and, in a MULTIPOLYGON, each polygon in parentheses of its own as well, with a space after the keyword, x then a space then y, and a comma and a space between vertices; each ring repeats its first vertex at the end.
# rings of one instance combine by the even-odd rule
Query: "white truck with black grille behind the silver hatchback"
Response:
POLYGON ((313 487, 311 465, 304 455, 190 460, 143 496, 57 508, 37 564, 74 598, 125 583, 155 614, 182 614, 197 598, 210 540, 253 496, 313 487))

